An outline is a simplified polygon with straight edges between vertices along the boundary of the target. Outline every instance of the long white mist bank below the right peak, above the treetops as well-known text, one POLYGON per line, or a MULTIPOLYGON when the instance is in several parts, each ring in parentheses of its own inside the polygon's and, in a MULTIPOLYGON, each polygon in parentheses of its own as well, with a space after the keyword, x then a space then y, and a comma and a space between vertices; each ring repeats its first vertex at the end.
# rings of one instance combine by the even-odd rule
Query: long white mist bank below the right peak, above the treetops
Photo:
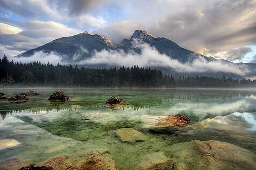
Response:
POLYGON ((207 62, 204 58, 198 58, 198 60, 192 63, 182 64, 178 60, 174 60, 165 54, 160 54, 156 48, 151 47, 147 43, 137 44, 137 47, 141 49, 141 54, 130 51, 124 53, 123 50, 102 50, 95 51, 95 54, 91 58, 86 58, 78 62, 78 64, 107 64, 110 66, 143 66, 143 67, 169 67, 177 72, 225 72, 234 73, 237 75, 245 75, 249 70, 245 67, 239 67, 235 64, 212 61, 207 62))

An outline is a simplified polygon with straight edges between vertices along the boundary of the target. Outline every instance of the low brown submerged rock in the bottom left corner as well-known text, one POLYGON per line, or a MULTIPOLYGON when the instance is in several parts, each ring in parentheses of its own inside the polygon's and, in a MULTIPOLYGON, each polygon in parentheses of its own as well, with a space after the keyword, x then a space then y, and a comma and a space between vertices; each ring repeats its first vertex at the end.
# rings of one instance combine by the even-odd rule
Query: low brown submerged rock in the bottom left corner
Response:
POLYGON ((0 161, 1 170, 18 170, 23 166, 31 166, 34 161, 30 159, 19 159, 11 157, 0 161))

